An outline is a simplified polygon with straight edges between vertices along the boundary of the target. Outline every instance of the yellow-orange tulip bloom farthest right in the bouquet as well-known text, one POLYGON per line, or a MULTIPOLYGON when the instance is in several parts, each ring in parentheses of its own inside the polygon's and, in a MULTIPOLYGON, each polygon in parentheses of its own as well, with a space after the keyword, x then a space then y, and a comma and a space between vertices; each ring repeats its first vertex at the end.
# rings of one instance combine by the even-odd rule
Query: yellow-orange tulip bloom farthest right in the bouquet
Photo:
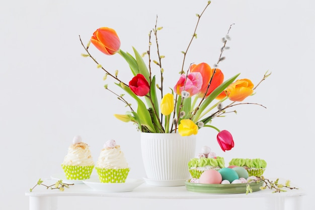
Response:
POLYGON ((254 84, 249 79, 237 80, 230 84, 226 89, 226 95, 231 101, 243 101, 253 94, 254 84))

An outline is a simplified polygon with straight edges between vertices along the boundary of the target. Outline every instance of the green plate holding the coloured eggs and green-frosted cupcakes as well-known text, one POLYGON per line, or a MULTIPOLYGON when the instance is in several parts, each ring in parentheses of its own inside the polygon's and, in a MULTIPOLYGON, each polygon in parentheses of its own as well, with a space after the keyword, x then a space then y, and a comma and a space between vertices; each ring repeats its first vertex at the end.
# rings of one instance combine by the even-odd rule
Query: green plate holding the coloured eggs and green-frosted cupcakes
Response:
MULTIPOLYGON (((203 192, 212 194, 238 194, 246 193, 248 183, 240 184, 199 184, 191 183, 190 180, 185 182, 186 189, 191 192, 203 192)), ((264 182, 252 182, 250 186, 253 192, 259 191, 264 182)))

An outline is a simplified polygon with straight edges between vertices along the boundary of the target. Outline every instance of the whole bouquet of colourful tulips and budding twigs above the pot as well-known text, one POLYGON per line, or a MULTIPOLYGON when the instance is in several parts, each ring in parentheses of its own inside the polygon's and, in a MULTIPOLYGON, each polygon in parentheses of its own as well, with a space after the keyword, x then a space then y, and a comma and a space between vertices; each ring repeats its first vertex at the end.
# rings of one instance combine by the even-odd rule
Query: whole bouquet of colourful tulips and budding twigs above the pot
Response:
MULTIPOLYGON (((191 64, 188 70, 184 71, 185 57, 189 46, 194 38, 197 38, 196 29, 199 20, 210 1, 200 15, 197 15, 198 21, 194 30, 194 35, 191 37, 187 50, 182 52, 184 59, 180 76, 174 87, 165 93, 163 88, 164 68, 161 65, 161 60, 164 58, 160 55, 159 44, 157 42, 157 32, 162 29, 154 27, 149 33, 148 50, 143 55, 133 47, 134 56, 120 49, 120 39, 116 31, 112 28, 102 27, 97 29, 87 45, 83 44, 86 53, 82 55, 91 57, 97 63, 97 67, 103 69, 107 76, 112 77, 115 84, 131 96, 137 102, 137 108, 125 99, 124 94, 116 94, 114 91, 105 85, 105 89, 115 94, 120 101, 125 103, 128 111, 124 114, 115 114, 116 118, 124 122, 132 122, 137 125, 141 132, 152 133, 169 133, 178 132, 180 135, 197 134, 198 129, 202 127, 211 127, 218 131, 217 141, 223 151, 230 150, 234 146, 232 135, 227 130, 219 130, 211 125, 211 121, 215 117, 223 116, 226 110, 230 107, 240 104, 248 96, 253 95, 257 86, 265 80, 270 74, 265 74, 263 79, 254 86, 249 79, 236 80, 240 74, 237 74, 224 81, 224 75, 221 69, 217 66, 219 62, 224 60, 222 55, 229 40, 229 27, 226 36, 222 39, 223 46, 220 51, 218 61, 213 68, 205 62, 199 64, 191 64), (156 40, 158 61, 152 62, 159 67, 159 78, 161 83, 157 84, 157 75, 153 75, 151 66, 151 33, 153 32, 156 40), (114 74, 107 71, 90 53, 89 46, 92 43, 98 50, 106 55, 120 54, 128 63, 133 78, 130 78, 129 83, 121 81, 118 77, 118 72, 114 74), (148 65, 145 64, 142 56, 148 56, 148 65), (235 81, 236 80, 236 81, 235 81), (160 98, 160 102, 159 102, 160 98), (230 103, 223 106, 222 103, 229 100, 230 103)), ((255 103, 256 104, 256 103, 255 103)), ((260 105, 260 104, 257 104, 260 105)), ((262 105, 260 105, 262 106, 262 105)), ((235 111, 233 111, 235 112, 235 111)))

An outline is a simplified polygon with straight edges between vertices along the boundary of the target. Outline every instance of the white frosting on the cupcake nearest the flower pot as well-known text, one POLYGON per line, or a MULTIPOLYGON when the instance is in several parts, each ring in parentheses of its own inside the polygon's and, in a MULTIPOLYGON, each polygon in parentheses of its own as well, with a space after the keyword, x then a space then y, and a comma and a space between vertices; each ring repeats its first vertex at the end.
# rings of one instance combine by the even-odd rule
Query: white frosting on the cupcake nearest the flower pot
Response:
POLYGON ((124 153, 120 150, 120 146, 116 145, 114 148, 102 149, 98 161, 96 163, 98 168, 107 169, 121 169, 128 168, 128 163, 124 153))

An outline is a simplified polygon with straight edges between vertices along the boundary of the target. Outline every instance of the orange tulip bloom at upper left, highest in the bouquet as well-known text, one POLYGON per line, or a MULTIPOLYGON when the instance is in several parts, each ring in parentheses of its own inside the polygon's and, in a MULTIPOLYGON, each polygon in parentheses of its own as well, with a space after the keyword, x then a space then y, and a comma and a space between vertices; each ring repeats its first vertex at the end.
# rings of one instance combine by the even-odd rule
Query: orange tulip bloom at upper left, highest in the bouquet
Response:
POLYGON ((102 27, 91 37, 91 42, 101 52, 107 55, 115 54, 120 48, 120 40, 114 29, 102 27))

